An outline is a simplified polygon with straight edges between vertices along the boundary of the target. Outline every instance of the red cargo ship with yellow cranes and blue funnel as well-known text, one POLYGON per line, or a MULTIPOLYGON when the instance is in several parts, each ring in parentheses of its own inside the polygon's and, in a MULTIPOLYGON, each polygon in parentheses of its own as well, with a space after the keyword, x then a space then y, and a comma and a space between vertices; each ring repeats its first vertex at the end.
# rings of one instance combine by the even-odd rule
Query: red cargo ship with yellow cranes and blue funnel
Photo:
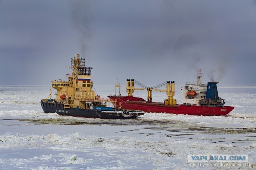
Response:
POLYGON ((108 96, 111 100, 117 100, 118 108, 142 110, 148 113, 174 113, 186 115, 204 115, 204 116, 223 116, 234 109, 233 106, 224 106, 225 102, 218 96, 217 83, 208 82, 202 84, 200 78, 202 77, 199 69, 197 73, 197 81, 195 84, 185 84, 181 88, 181 102, 176 104, 174 99, 175 83, 174 81, 164 82, 154 87, 147 87, 142 83, 127 79, 126 92, 128 96, 108 96), (142 88, 134 88, 134 84, 142 88), (166 85, 166 90, 158 89, 166 85), (148 90, 148 100, 134 97, 132 94, 134 90, 148 90), (166 92, 168 99, 164 102, 152 102, 152 90, 166 92))

